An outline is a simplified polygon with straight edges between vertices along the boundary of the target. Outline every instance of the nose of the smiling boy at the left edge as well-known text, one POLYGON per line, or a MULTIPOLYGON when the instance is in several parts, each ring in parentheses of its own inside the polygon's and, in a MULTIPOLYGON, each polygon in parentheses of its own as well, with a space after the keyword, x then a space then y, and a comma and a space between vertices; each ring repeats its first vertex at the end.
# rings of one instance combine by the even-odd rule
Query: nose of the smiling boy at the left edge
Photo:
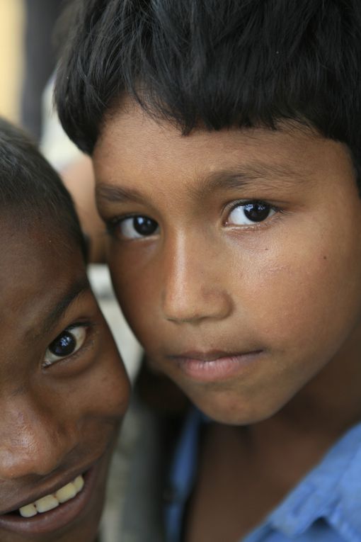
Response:
POLYGON ((0 407, 0 478, 43 476, 55 470, 73 439, 54 413, 23 397, 4 400, 0 407))

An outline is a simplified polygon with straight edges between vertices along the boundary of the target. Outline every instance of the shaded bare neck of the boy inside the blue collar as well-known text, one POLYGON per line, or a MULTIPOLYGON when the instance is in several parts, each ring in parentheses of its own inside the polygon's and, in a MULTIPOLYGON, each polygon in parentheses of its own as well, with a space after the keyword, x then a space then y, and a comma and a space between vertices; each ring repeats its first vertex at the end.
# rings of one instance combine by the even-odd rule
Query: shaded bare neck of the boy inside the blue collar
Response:
POLYGON ((356 398, 361 371, 358 364, 353 365, 345 361, 343 378, 337 380, 333 372, 338 371, 331 364, 327 375, 315 378, 280 412, 262 422, 248 427, 218 423, 207 427, 187 542, 244 536, 360 420, 356 398), (212 508, 219 512, 215 523, 209 519, 212 508), (244 513, 240 515, 239 510, 244 513))

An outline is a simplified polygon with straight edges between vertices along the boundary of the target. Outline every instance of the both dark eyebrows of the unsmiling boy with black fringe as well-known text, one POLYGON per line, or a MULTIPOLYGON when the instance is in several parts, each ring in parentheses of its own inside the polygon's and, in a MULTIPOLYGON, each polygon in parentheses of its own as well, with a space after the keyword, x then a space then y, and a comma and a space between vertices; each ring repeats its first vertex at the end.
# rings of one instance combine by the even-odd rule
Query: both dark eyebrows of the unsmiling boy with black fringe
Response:
MULTIPOLYGON (((295 183, 305 181, 306 172, 297 171, 286 164, 269 164, 263 162, 251 162, 238 167, 230 167, 212 171, 210 174, 200 176, 195 188, 190 190, 195 196, 203 196, 205 193, 217 189, 239 189, 251 187, 257 183, 257 188, 285 188, 293 187, 295 183)), ((99 199, 114 203, 144 203, 144 196, 137 188, 128 188, 116 184, 98 182, 96 196, 99 199)))

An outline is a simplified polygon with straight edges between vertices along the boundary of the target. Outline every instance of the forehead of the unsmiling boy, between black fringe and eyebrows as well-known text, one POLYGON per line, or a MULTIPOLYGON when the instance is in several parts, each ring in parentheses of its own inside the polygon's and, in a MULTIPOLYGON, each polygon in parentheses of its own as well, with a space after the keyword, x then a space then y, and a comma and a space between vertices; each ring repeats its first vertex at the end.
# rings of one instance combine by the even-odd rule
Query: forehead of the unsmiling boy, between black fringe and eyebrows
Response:
POLYGON ((331 163, 350 164, 344 145, 321 137, 297 123, 268 128, 195 129, 183 135, 166 120, 156 119, 140 106, 126 106, 108 115, 93 153, 96 179, 103 184, 133 182, 136 177, 174 172, 202 181, 238 173, 249 179, 306 179, 331 163))

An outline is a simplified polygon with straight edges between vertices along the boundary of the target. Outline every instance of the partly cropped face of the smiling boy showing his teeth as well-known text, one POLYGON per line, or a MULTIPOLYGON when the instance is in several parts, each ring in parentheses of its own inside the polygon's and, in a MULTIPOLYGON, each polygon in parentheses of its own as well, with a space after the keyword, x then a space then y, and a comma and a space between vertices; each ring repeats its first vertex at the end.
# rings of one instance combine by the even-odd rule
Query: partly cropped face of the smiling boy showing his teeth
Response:
POLYGON ((25 230, 1 219, 0 540, 93 542, 129 384, 80 249, 25 230))

